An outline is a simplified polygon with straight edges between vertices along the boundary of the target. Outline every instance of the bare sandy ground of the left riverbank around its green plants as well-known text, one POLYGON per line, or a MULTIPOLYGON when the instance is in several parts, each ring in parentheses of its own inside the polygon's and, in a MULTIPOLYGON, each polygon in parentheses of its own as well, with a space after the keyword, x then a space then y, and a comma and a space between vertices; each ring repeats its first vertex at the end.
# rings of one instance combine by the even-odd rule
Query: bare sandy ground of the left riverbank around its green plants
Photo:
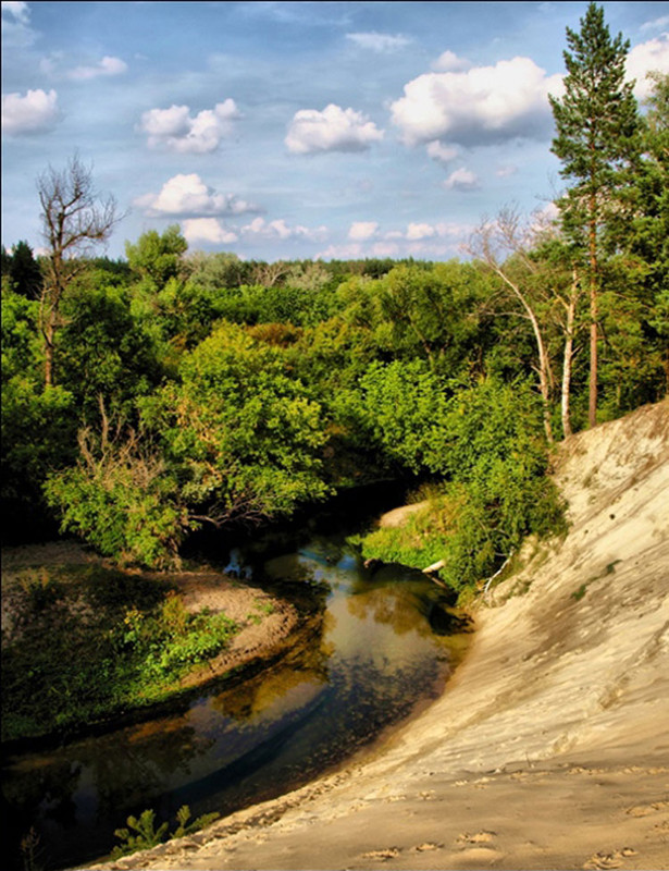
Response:
MULTIPOLYGON (((309 629, 309 621, 300 618, 296 606, 285 598, 226 577, 220 572, 198 568, 173 574, 119 573, 73 541, 3 549, 2 590, 3 658, 9 655, 12 646, 14 649, 25 647, 25 638, 29 635, 33 645, 26 666, 28 671, 34 665, 39 667, 37 647, 42 638, 45 643, 49 643, 51 627, 57 627, 51 643, 58 646, 61 641, 58 627, 66 624, 72 655, 79 657, 79 660, 84 657, 86 661, 87 645, 91 642, 87 640, 88 636, 92 642, 98 637, 100 643, 107 643, 110 633, 125 633, 131 639, 133 633, 138 635, 145 631, 150 622, 156 622, 156 617, 148 615, 160 613, 166 601, 165 594, 176 600, 177 608, 171 608, 172 621, 183 623, 184 629, 186 621, 200 617, 208 621, 207 626, 213 627, 218 616, 223 617, 231 627, 228 635, 224 633, 226 640, 216 655, 208 657, 207 661, 199 664, 193 663, 177 679, 166 675, 164 690, 160 680, 156 680, 156 686, 147 687, 148 698, 143 700, 143 692, 139 691, 136 701, 129 696, 128 701, 117 710, 110 709, 106 713, 101 708, 92 716, 78 717, 82 722, 77 720, 75 706, 66 722, 59 724, 53 720, 53 728, 35 732, 26 725, 24 736, 10 735, 10 740, 3 743, 3 749, 12 751, 21 750, 24 746, 34 749, 37 745, 48 745, 63 736, 78 737, 137 722, 213 682, 239 680, 276 662, 292 649, 297 636, 309 629), (90 573, 95 574, 89 576, 90 573), (123 590, 114 593, 111 588, 119 581, 123 590), (135 587, 139 589, 138 593, 135 593, 135 587), (126 616, 120 622, 114 598, 121 599, 128 591, 137 594, 141 604, 137 608, 134 599, 128 600, 128 606, 132 608, 129 611, 125 609, 126 616), (103 612, 107 616, 101 616, 103 612), (44 624, 41 631, 36 622, 44 624), (32 635, 36 630, 39 636, 37 639, 32 635)), ((205 628, 205 631, 210 634, 213 629, 205 628)), ((122 657, 132 640, 121 639, 115 646, 112 645, 110 651, 121 645, 119 657, 122 657)), ((178 636, 175 642, 178 643, 178 636)), ((104 663, 101 662, 101 666, 107 667, 104 663)), ((102 674, 97 674, 97 677, 103 679, 102 674)), ((66 676, 62 678, 64 691, 70 688, 69 679, 66 676)), ((110 679, 109 675, 107 679, 110 679)), ((58 687, 50 684, 47 689, 53 692, 58 687)), ((79 692, 87 695, 86 688, 79 692)), ((3 704, 7 701, 3 698, 3 704)), ((16 700, 16 703, 21 702, 16 700)), ((11 713, 13 715, 14 711, 11 713)), ((63 711, 63 714, 66 715, 66 712, 63 711)), ((48 713, 42 719, 47 723, 48 713)), ((21 726, 22 723, 17 721, 17 728, 21 729, 21 726)), ((7 738, 4 731, 3 738, 7 738)))

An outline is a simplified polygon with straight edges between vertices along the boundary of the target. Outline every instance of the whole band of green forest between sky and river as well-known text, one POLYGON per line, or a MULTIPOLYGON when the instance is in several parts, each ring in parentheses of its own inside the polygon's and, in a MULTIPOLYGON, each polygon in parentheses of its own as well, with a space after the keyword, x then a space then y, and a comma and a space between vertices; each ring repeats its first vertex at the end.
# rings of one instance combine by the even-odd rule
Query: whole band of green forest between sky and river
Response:
POLYGON ((247 262, 176 225, 95 257, 113 200, 76 158, 50 170, 48 254, 2 252, 4 516, 164 567, 201 525, 396 477, 435 506, 404 559, 490 575, 559 527, 550 443, 593 402, 600 421, 667 393, 669 76, 624 136, 600 177, 565 159, 557 220, 507 208, 448 262, 247 262))

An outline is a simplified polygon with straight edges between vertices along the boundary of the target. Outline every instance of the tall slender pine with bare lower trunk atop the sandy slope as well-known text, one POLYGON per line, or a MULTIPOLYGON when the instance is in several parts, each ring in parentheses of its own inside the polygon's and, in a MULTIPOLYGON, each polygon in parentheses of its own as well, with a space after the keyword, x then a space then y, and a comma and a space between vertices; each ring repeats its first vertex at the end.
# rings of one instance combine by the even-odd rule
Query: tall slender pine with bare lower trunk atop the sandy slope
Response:
POLYGON ((600 230, 616 210, 621 169, 637 148, 639 113, 633 83, 624 82, 630 47, 611 39, 604 11, 591 2, 581 30, 567 28, 565 95, 550 97, 557 127, 553 152, 560 174, 574 185, 558 201, 565 230, 587 252, 590 283, 590 426, 597 413, 597 342, 600 230))

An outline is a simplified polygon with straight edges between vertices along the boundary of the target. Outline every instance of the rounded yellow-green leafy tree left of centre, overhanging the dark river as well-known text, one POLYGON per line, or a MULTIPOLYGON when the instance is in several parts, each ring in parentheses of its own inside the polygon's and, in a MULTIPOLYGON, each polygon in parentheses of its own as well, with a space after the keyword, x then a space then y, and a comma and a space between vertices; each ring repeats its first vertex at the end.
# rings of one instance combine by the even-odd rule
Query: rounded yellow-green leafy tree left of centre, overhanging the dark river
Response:
POLYGON ((181 493, 212 517, 287 513, 326 493, 319 405, 281 351, 223 324, 186 355, 181 383, 145 403, 181 493))

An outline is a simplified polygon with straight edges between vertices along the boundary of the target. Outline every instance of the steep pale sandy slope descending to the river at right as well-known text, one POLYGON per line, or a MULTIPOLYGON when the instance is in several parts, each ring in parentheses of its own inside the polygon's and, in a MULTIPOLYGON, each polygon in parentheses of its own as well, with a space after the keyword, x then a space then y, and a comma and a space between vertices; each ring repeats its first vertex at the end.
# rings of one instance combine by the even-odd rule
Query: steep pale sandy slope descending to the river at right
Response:
POLYGON ((562 445, 571 530, 376 755, 108 868, 669 869, 669 403, 562 445))

